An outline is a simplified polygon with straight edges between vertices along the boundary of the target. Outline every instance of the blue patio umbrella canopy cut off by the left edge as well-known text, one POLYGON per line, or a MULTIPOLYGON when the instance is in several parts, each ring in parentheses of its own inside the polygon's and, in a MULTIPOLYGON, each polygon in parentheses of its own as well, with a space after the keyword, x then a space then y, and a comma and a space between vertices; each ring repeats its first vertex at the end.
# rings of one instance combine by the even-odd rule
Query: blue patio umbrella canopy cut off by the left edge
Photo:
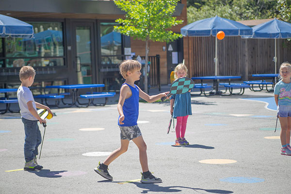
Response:
POLYGON ((19 19, 0 15, 0 37, 32 38, 33 27, 19 19))

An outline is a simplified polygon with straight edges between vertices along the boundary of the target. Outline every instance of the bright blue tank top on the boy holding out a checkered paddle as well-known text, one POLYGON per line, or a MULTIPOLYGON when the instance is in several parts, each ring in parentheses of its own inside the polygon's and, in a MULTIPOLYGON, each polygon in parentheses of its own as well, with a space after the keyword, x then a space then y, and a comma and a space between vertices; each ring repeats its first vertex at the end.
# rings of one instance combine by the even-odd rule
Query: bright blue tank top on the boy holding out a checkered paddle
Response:
MULTIPOLYGON (((124 83, 127 84, 127 83, 124 83)), ((122 84, 122 85, 124 85, 122 84)), ((139 90, 138 87, 134 84, 134 87, 127 84, 131 90, 131 97, 125 99, 123 103, 123 114, 124 114, 124 120, 122 125, 119 124, 119 117, 118 117, 118 125, 119 126, 135 126, 137 125, 137 119, 138 119, 138 108, 139 108, 139 90)))

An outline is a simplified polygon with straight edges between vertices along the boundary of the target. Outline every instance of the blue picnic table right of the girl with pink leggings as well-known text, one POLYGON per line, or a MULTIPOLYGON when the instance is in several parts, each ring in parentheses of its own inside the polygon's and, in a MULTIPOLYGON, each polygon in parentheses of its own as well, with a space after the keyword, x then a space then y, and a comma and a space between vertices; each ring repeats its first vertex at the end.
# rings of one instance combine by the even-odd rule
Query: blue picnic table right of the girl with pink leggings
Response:
POLYGON ((219 90, 220 80, 228 80, 228 83, 230 84, 231 79, 241 79, 241 76, 202 76, 192 77, 191 79, 200 80, 201 84, 203 84, 203 80, 213 80, 213 91, 210 91, 209 95, 221 95, 223 92, 219 90))

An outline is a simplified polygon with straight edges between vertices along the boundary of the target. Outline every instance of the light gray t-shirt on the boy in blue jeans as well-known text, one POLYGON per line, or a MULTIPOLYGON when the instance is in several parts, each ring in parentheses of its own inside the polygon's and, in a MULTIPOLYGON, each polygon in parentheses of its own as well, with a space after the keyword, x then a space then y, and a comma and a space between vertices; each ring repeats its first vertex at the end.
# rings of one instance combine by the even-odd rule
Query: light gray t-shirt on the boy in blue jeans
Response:
POLYGON ((20 107, 21 117, 23 117, 27 120, 32 120, 32 121, 37 120, 32 115, 32 113, 29 112, 28 106, 27 106, 27 103, 29 101, 32 101, 32 106, 36 111, 34 98, 33 98, 33 95, 32 95, 32 92, 30 91, 30 89, 28 87, 25 87, 25 86, 19 86, 19 88, 17 90, 17 99, 18 99, 18 104, 20 107))

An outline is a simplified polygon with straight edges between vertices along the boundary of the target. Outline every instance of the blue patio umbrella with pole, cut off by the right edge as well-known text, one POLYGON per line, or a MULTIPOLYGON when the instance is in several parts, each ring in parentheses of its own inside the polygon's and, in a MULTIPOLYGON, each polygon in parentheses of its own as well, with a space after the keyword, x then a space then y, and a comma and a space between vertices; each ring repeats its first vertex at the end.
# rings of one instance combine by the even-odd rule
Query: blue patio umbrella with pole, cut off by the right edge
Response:
POLYGON ((276 53, 276 39, 277 38, 291 38, 291 23, 273 19, 265 23, 253 27, 253 34, 251 36, 243 36, 243 38, 274 38, 275 39, 275 73, 277 72, 277 53, 276 53))

